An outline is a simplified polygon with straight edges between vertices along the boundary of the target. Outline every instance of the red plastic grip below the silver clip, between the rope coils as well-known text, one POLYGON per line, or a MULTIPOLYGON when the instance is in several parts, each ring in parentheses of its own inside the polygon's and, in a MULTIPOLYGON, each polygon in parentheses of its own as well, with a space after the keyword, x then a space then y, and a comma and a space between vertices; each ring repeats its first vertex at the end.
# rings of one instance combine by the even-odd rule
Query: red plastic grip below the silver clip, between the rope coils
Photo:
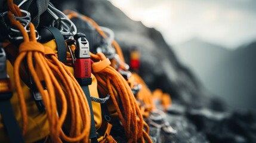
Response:
POLYGON ((75 77, 91 77, 91 58, 77 58, 75 60, 75 77))

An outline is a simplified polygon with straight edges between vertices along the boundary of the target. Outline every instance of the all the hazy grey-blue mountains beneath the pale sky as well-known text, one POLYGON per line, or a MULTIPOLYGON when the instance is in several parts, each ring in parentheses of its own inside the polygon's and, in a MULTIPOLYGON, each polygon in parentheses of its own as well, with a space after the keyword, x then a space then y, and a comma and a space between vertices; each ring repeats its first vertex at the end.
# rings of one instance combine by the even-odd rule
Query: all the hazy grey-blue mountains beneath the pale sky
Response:
POLYGON ((193 38, 174 49, 206 89, 223 98, 230 108, 255 110, 256 42, 228 49, 193 38))

